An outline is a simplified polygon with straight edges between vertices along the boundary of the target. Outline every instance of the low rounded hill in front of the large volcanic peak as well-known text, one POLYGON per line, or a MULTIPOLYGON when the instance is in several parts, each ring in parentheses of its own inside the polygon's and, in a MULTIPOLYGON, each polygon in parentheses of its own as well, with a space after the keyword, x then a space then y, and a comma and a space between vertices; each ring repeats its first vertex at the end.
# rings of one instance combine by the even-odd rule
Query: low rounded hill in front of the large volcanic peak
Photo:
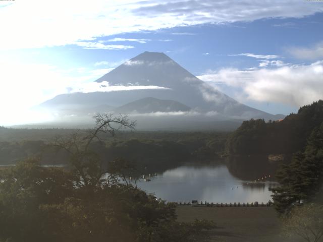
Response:
POLYGON ((153 97, 145 97, 115 109, 116 112, 121 113, 178 112, 189 110, 191 108, 183 103, 173 100, 160 100, 153 97))

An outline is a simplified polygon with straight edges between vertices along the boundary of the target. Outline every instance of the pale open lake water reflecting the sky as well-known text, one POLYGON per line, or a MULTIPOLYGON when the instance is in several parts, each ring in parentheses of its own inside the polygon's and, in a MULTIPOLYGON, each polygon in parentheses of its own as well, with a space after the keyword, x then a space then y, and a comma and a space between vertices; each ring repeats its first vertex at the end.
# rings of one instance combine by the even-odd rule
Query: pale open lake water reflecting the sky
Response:
POLYGON ((266 203, 272 194, 268 188, 276 185, 273 181, 250 183, 239 179, 226 165, 183 165, 138 183, 142 190, 166 201, 209 203, 266 203))

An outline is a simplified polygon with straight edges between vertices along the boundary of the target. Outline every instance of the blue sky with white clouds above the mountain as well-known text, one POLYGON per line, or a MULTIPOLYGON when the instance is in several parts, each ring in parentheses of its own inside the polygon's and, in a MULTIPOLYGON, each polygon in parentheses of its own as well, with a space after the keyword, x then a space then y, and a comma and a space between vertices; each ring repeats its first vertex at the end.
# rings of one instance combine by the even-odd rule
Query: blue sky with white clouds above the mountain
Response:
POLYGON ((66 2, 0 2, 7 123, 17 109, 86 86, 144 51, 165 52, 267 112, 323 97, 323 1, 66 2))

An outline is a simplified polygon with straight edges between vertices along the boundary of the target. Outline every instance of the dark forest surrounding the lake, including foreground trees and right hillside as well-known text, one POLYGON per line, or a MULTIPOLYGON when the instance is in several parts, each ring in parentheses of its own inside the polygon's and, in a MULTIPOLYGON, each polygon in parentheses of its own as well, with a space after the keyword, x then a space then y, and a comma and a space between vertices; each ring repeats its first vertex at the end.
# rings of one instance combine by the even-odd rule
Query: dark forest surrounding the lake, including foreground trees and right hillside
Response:
POLYGON ((0 128, 0 241, 203 241, 216 224, 179 222, 176 204, 129 181, 185 162, 222 162, 242 179, 276 172, 279 186, 271 191, 284 228, 297 232, 306 219, 304 234, 318 224, 315 237, 323 236, 315 220, 323 213, 323 101, 283 120, 245 121, 231 134, 133 132, 126 116, 95 120, 94 129, 34 135, 0 128), (288 159, 268 162, 280 155, 288 159))

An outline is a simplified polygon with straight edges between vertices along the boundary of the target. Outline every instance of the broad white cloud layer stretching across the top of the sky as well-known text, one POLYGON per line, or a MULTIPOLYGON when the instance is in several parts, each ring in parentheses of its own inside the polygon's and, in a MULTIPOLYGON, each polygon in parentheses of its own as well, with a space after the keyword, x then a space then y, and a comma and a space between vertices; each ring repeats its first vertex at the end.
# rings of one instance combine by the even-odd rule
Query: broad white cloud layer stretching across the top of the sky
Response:
POLYGON ((300 18, 322 11, 321 4, 299 0, 15 1, 0 8, 0 22, 4 23, 0 48, 64 46, 120 33, 262 18, 300 18))

